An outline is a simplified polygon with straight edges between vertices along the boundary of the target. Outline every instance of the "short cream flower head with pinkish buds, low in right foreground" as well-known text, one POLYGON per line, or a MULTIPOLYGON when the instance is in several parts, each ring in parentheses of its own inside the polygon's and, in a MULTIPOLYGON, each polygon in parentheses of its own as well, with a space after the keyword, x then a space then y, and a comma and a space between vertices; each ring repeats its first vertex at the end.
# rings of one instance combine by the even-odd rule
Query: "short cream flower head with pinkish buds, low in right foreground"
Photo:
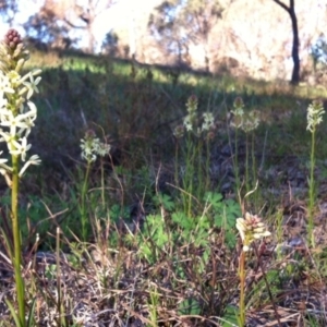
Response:
POLYGON ((250 245, 254 240, 263 239, 271 234, 266 229, 259 217, 257 217, 256 215, 251 215, 249 213, 245 214, 245 219, 237 219, 237 229, 240 232, 244 252, 250 250, 250 245))

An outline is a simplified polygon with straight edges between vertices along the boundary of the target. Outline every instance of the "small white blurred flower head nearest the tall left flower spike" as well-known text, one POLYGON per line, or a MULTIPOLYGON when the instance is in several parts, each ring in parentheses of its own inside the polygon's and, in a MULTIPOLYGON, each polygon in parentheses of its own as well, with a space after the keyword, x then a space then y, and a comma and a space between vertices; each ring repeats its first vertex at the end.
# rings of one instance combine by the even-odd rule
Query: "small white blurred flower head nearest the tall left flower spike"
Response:
POLYGON ((110 148, 110 144, 100 142, 93 130, 86 131, 84 138, 81 140, 82 158, 88 164, 94 162, 97 156, 109 155, 110 148))

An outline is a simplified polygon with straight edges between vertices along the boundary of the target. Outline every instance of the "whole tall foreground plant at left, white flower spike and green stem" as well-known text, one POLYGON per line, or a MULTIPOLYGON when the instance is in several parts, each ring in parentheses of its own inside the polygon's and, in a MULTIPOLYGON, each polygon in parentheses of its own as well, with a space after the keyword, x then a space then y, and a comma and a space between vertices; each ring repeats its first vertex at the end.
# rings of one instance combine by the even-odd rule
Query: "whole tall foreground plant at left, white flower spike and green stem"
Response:
MULTIPOLYGON (((12 261, 14 265, 15 287, 19 302, 19 314, 12 315, 19 326, 26 326, 25 290, 22 277, 21 232, 19 222, 19 185, 20 179, 31 165, 39 165, 37 155, 27 160, 27 152, 32 145, 27 143, 34 122, 37 117, 36 106, 31 101, 34 92, 38 93, 37 85, 41 77, 40 70, 33 70, 21 75, 24 63, 29 53, 25 49, 20 34, 10 29, 0 43, 0 142, 5 142, 11 156, 11 166, 8 159, 0 159, 0 173, 11 189, 11 222, 13 229, 14 249, 12 261), (37 76, 37 77, 36 77, 37 76), (23 164, 23 165, 22 165, 23 164)), ((9 303, 10 308, 12 305, 9 303)))

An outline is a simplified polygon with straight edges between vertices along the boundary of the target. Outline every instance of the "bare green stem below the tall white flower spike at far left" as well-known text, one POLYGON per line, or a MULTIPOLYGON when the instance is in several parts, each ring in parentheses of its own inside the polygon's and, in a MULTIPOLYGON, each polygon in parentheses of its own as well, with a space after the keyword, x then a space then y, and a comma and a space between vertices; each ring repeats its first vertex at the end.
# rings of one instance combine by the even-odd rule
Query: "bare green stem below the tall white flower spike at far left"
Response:
POLYGON ((21 264, 22 264, 22 249, 21 249, 21 231, 19 221, 19 157, 12 156, 12 189, 11 189, 11 219, 13 229, 13 241, 14 241, 14 275, 15 275, 15 287, 19 302, 19 317, 21 326, 25 326, 25 288, 24 280, 22 277, 21 264))

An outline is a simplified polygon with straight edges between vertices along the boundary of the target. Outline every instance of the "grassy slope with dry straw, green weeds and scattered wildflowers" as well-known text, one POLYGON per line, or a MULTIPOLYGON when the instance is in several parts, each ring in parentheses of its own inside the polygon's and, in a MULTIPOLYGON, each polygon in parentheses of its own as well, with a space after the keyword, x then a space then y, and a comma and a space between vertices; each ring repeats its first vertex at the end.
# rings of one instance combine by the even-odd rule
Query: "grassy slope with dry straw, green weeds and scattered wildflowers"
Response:
POLYGON ((0 326, 326 325, 324 89, 33 49, 20 69, 0 326))

